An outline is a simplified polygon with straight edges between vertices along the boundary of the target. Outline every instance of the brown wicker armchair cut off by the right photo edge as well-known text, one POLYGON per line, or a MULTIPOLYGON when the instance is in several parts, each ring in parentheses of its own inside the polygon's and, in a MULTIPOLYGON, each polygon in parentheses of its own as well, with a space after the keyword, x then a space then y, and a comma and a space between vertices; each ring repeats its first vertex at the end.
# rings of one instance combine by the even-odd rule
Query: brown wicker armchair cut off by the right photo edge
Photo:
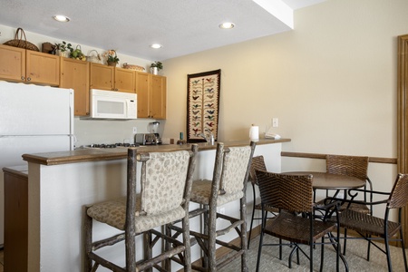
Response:
MULTIPOLYGON (((362 189, 354 189, 363 191, 362 189)), ((352 209, 345 209, 340 214, 340 226, 345 229, 355 230, 361 237, 368 241, 367 260, 370 260, 370 245, 378 248, 387 256, 388 271, 393 271, 390 257, 390 241, 400 241, 403 248, 403 262, 405 271, 408 271, 405 246, 403 243, 403 228, 401 227, 402 209, 408 204, 408 174, 398 174, 393 184, 391 193, 373 191, 375 195, 389 195, 389 198, 370 203, 370 205, 386 204, 384 218, 376 218, 369 214, 356 212, 352 209), (398 209, 398 222, 389 220, 390 209, 398 209), (399 237, 398 237, 399 235, 399 237), (374 237, 373 237, 374 236, 374 237), (373 240, 384 240, 385 250, 374 244, 373 240)), ((354 200, 345 200, 348 203, 355 203, 354 200)), ((355 239, 355 238, 345 238, 355 239)))

